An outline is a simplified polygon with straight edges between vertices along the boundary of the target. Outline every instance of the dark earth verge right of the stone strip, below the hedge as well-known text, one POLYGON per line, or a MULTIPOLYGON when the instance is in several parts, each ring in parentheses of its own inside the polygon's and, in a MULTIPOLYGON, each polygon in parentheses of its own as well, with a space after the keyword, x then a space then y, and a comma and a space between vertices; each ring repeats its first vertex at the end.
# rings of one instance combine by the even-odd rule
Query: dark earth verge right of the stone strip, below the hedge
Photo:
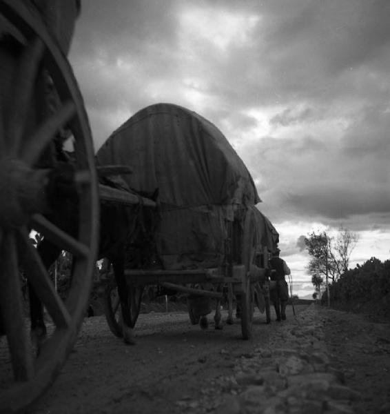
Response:
POLYGON ((390 324, 376 313, 322 311, 331 364, 362 398, 356 413, 390 413, 390 324))

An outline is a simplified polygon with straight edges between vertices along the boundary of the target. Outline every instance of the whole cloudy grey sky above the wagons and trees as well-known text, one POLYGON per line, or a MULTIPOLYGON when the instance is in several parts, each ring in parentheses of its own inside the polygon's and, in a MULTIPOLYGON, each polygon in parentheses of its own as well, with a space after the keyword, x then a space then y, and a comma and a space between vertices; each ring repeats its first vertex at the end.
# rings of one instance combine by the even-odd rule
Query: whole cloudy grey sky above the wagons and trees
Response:
POLYGON ((212 121, 252 174, 294 292, 340 225, 390 257, 390 1, 83 0, 70 61, 96 150, 145 106, 212 121))

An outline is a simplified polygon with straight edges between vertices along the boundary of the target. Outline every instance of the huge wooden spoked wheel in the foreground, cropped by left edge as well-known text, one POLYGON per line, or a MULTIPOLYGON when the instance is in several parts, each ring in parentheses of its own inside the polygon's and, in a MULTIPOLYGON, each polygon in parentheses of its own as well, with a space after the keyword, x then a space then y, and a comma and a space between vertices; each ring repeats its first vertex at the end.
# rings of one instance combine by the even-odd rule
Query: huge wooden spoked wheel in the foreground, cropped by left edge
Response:
MULTIPOLYGON (((21 51, 9 60, 1 58, 1 77, 14 75, 0 90, 0 322, 7 337, 7 342, 0 340, 0 412, 8 413, 27 406, 50 385, 76 341, 94 272, 99 200, 88 117, 68 61, 41 20, 21 1, 1 0, 0 13, 8 21, 6 28, 12 29, 8 39, 21 51), (10 62, 15 66, 7 67, 10 62), (32 102, 40 98, 34 88, 41 68, 52 79, 61 105, 33 129, 30 115, 32 102), (43 215, 50 175, 37 168, 37 161, 54 146, 54 135, 63 126, 72 131, 75 141, 76 172, 71 186, 79 211, 76 237, 43 215), (67 299, 54 290, 30 243, 30 228, 72 253, 67 299), (32 353, 26 326, 20 269, 53 322, 38 357, 32 353)), ((51 182, 54 190, 61 191, 57 181, 51 182)))

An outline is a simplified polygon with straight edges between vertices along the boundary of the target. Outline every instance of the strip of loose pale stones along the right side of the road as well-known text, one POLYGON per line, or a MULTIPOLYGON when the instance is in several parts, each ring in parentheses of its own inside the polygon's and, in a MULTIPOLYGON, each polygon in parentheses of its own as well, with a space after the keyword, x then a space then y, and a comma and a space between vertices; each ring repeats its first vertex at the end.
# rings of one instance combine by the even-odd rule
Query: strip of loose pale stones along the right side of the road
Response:
POLYGON ((236 358, 232 375, 206 383, 200 400, 181 400, 177 407, 194 414, 355 413, 360 394, 331 364, 325 322, 312 304, 279 325, 267 346, 236 358))

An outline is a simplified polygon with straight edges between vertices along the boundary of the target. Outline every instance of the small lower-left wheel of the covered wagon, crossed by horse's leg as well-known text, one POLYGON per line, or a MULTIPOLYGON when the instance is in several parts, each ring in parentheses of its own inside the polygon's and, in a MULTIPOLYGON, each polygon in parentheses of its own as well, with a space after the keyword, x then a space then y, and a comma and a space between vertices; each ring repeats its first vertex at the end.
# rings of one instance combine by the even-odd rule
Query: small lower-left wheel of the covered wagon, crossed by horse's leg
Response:
MULTIPOLYGON (((130 326, 134 328, 141 310, 143 286, 127 286, 127 301, 130 312, 130 326)), ((104 290, 104 314, 110 331, 117 337, 122 334, 122 308, 115 283, 107 284, 104 290)))

